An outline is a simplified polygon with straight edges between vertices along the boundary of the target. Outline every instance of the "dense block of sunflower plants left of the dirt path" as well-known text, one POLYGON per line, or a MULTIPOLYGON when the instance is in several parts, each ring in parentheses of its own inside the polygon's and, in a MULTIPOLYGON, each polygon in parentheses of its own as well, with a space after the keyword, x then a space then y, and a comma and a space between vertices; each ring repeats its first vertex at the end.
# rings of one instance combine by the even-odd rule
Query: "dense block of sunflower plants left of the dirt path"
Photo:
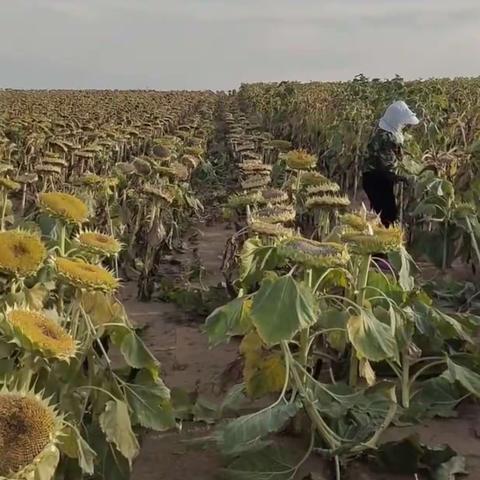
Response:
POLYGON ((4 100, 0 478, 128 478, 142 432, 176 422, 158 362, 117 298, 119 275, 129 265, 150 275, 162 222, 170 219, 161 237, 172 245, 200 208, 189 179, 212 99, 1 92, 4 100))

